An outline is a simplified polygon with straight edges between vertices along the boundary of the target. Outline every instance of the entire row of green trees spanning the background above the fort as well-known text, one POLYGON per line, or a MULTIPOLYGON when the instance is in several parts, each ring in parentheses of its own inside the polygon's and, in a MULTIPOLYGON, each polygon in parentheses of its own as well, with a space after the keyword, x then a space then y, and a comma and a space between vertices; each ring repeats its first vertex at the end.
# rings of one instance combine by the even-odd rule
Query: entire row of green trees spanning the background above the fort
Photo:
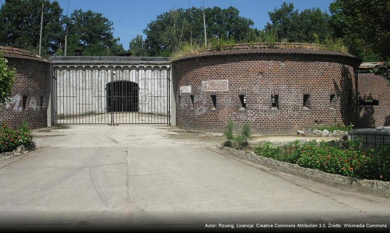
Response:
MULTIPOLYGON (((67 55, 115 55, 124 51, 113 23, 101 13, 75 10, 62 14, 57 1, 5 0, 0 9, 0 45, 38 51, 41 6, 44 3, 42 55, 63 54, 68 29, 67 55), (61 46, 60 46, 61 45, 61 46)), ((205 8, 208 44, 240 42, 309 42, 331 50, 348 51, 363 61, 390 61, 390 1, 334 0, 330 13, 303 9, 284 2, 268 12, 263 30, 230 6, 205 8), (347 50, 347 49, 345 49, 347 50)), ((174 9, 152 20, 130 43, 134 56, 169 56, 187 46, 204 46, 202 8, 174 9)))

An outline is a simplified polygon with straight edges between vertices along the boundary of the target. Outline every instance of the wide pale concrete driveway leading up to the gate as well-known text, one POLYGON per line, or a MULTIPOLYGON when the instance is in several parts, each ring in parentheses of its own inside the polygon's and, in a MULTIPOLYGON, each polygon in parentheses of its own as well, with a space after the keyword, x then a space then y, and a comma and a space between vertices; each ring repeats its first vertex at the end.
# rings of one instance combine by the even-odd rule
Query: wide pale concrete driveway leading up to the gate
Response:
POLYGON ((214 152, 220 134, 107 125, 34 134, 38 150, 0 160, 0 227, 390 223, 389 199, 214 152))

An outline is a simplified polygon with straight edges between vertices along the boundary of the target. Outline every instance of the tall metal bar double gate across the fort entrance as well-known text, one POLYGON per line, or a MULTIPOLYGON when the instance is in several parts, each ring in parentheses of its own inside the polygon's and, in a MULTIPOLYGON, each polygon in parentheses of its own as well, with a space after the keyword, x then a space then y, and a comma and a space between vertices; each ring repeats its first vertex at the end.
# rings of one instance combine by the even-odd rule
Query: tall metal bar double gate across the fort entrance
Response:
POLYGON ((169 125, 169 71, 55 68, 55 123, 169 125))

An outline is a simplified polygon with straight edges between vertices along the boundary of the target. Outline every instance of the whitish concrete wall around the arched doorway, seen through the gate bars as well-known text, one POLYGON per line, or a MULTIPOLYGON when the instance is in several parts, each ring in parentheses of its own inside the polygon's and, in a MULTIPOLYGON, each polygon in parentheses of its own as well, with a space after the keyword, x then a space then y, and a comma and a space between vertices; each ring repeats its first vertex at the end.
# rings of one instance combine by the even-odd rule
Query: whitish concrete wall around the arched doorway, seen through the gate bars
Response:
POLYGON ((140 113, 167 116, 167 70, 56 69, 55 72, 57 116, 105 113, 106 84, 121 80, 138 83, 140 113))

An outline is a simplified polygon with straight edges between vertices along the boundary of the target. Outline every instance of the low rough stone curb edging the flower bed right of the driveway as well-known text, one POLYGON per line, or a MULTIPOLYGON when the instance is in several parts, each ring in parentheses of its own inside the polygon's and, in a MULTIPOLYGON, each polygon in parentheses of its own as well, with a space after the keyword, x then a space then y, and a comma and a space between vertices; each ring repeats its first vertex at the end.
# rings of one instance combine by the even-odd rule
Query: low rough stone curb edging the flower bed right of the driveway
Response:
POLYGON ((333 186, 339 188, 340 190, 352 191, 361 194, 369 194, 377 197, 390 198, 390 182, 357 179, 354 177, 330 174, 311 168, 301 167, 297 164, 290 164, 286 162, 280 162, 271 158, 266 158, 257 155, 254 152, 245 152, 233 148, 223 147, 219 144, 216 145, 216 149, 210 150, 217 153, 227 152, 230 156, 233 156, 233 159, 234 157, 238 158, 238 161, 244 159, 246 161, 255 162, 256 164, 266 166, 276 171, 281 171, 309 181, 333 186))

